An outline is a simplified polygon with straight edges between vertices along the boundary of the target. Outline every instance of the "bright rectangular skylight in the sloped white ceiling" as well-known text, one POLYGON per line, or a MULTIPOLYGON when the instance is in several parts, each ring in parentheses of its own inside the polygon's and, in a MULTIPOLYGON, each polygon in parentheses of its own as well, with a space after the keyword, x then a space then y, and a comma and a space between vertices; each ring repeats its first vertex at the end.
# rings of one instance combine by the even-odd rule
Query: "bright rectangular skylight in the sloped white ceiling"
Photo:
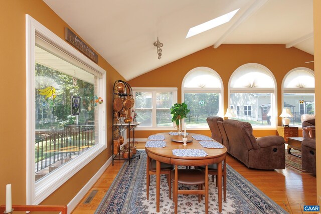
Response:
POLYGON ((240 9, 236 9, 235 11, 224 14, 223 16, 217 17, 213 20, 210 20, 208 22, 205 22, 205 23, 197 25, 193 28, 190 28, 189 33, 187 33, 187 36, 185 39, 187 39, 189 37, 193 37, 193 36, 200 34, 204 31, 208 31, 212 28, 215 28, 217 26, 220 26, 220 25, 223 25, 224 23, 229 22, 239 10, 240 9))

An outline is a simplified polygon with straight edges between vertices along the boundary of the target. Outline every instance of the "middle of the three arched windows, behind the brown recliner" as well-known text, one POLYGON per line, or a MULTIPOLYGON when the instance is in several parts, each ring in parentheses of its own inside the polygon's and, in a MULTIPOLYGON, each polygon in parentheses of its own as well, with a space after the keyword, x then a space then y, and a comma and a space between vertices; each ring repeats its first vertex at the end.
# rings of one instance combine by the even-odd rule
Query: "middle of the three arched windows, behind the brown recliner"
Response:
POLYGON ((252 126, 276 126, 276 81, 263 65, 249 63, 237 68, 229 80, 229 106, 233 118, 252 126))

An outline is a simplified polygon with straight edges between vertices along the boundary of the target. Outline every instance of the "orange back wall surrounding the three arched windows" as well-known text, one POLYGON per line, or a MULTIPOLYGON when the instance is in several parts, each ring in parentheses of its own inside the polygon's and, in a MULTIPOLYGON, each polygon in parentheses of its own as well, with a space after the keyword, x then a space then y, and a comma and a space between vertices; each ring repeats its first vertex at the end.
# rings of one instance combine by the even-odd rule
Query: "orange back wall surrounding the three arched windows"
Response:
MULTIPOLYGON (((166 52, 163 54, 166 55, 166 52)), ((226 109, 228 81, 232 73, 246 63, 259 63, 270 69, 276 79, 278 112, 281 112, 281 84, 284 75, 297 67, 314 70, 313 63, 304 63, 312 60, 312 55, 296 48, 286 49, 285 45, 221 45, 217 49, 211 46, 136 77, 128 83, 131 87, 177 87, 178 102, 181 102, 182 81, 185 75, 193 68, 209 67, 215 70, 223 80, 224 109, 226 109)), ((281 118, 278 118, 278 124, 282 124, 281 118)), ((136 131, 135 136, 146 138, 150 133, 152 132, 136 131)), ((276 134, 276 130, 254 130, 254 135, 257 137, 268 134, 276 134)))

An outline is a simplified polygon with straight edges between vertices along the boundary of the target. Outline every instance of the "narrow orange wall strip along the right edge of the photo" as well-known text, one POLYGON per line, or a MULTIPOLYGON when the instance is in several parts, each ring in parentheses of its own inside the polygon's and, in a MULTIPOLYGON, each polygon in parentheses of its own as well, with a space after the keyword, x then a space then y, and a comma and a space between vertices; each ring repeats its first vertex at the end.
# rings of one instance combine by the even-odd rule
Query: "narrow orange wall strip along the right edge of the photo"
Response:
MULTIPOLYGON (((313 27, 314 27, 314 65, 315 82, 321 82, 321 1, 313 0, 313 27)), ((321 85, 315 84, 315 91, 321 91, 321 85)), ((315 112, 321 112, 321 94, 315 93, 315 112)), ((321 127, 321 114, 315 115, 316 127, 321 127)), ((319 132, 318 132, 319 133, 319 132)), ((321 154, 321 135, 316 134, 316 154, 321 154)), ((316 155, 316 201, 321 205, 321 155, 316 155)))

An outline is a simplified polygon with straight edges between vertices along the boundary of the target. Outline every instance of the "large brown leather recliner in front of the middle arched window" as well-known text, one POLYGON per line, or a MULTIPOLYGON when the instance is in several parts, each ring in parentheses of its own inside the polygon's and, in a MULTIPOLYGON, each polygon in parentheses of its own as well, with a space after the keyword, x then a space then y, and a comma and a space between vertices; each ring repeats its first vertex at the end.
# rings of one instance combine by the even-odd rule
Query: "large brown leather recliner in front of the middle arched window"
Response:
MULTIPOLYGON (((256 139, 252 125, 238 120, 224 120, 223 124, 228 141, 227 152, 242 161, 249 168, 284 169, 285 141, 281 136, 266 136, 256 139)), ((219 125, 220 127, 220 125, 219 125)), ((221 129, 220 129, 221 130, 221 129)), ((224 137, 223 137, 224 138, 224 137)))

